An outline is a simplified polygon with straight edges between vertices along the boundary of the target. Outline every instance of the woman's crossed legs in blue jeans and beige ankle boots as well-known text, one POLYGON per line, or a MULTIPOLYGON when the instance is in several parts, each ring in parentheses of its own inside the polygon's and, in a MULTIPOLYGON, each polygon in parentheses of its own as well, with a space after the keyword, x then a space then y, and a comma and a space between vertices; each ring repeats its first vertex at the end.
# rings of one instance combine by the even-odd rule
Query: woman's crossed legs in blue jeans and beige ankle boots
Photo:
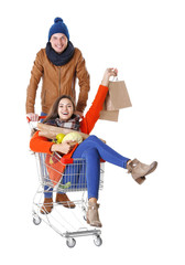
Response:
MULTIPOLYGON (((99 190, 100 158, 122 168, 128 167, 127 163, 128 161, 130 162, 130 159, 122 157, 120 153, 116 152, 109 146, 107 146, 101 140, 99 140, 96 136, 89 136, 84 142, 81 142, 75 150, 73 158, 86 159, 86 178, 87 178, 88 199, 89 199, 88 211, 87 211, 87 222, 94 226, 101 226, 101 223, 99 221, 99 214, 98 214, 99 205, 96 203, 98 199, 98 190, 99 190), (94 199, 94 201, 90 201, 90 199, 94 199)), ((145 167, 145 165, 142 165, 142 166, 145 167)), ((131 170, 134 168, 133 165, 130 167, 131 167, 131 170)), ((150 169, 150 167, 146 167, 146 168, 148 170, 150 169)), ((148 170, 145 170, 145 172, 148 170)), ((135 170, 135 172, 138 172, 138 170, 135 170)), ((141 176, 140 176, 140 179, 143 178, 141 176)))

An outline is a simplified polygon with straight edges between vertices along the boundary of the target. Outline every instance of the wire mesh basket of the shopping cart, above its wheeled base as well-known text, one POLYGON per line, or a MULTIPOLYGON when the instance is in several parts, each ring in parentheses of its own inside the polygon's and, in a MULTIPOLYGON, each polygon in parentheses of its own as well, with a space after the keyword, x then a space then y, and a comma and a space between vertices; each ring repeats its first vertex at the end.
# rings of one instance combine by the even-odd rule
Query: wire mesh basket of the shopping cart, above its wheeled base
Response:
MULTIPOLYGON (((63 158, 58 153, 35 153, 40 181, 59 192, 87 190, 86 160, 63 158)), ((100 163, 99 190, 104 188, 105 163, 100 163)))

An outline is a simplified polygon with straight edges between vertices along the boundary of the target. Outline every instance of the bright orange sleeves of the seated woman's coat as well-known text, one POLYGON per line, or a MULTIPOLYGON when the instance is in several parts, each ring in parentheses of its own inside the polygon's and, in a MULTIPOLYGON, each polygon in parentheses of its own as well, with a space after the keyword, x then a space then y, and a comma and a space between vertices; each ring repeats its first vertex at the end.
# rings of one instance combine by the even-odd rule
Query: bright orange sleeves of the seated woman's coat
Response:
MULTIPOLYGON (((107 92, 108 92, 107 86, 102 86, 102 85, 99 86, 96 97, 95 97, 89 110, 87 112, 86 116, 83 117, 83 120, 80 121, 80 131, 81 132, 89 135, 90 131, 92 130, 96 121, 99 118, 99 114, 102 109, 107 92)), ((47 138, 39 136, 39 131, 36 131, 30 141, 30 148, 31 148, 31 150, 33 150, 35 152, 46 152, 46 153, 51 155, 52 153, 51 147, 53 144, 54 142, 48 141, 47 138)), ((78 145, 76 145, 70 152, 68 152, 67 155, 64 155, 63 157, 70 158, 73 152, 77 148, 77 146, 78 145)))

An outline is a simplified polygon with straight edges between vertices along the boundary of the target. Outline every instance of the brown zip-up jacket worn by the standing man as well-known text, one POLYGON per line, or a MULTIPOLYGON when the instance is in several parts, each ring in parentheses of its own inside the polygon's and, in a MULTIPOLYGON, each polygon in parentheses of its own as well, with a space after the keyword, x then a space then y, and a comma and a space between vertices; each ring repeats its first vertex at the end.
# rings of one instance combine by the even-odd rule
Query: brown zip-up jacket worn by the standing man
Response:
POLYGON ((41 49, 36 54, 26 91, 26 114, 34 113, 36 89, 41 77, 42 112, 47 114, 55 99, 61 95, 69 95, 76 102, 76 77, 79 81, 79 96, 76 110, 84 112, 90 89, 89 74, 86 70, 81 52, 77 47, 75 47, 72 60, 63 66, 56 66, 51 63, 45 49, 41 49))

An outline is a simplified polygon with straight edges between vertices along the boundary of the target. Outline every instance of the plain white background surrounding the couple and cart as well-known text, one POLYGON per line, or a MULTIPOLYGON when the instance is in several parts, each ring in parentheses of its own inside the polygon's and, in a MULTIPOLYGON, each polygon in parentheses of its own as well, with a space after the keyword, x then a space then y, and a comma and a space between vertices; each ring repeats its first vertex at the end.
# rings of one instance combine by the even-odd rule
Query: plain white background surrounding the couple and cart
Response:
MULTIPOLYGON (((1 63, 1 259, 3 264, 185 264, 183 0, 6 1, 0 7, 1 63), (100 198, 104 244, 65 240, 32 223, 37 187, 29 152, 25 95, 36 53, 55 17, 67 24, 90 73, 94 99, 106 67, 119 70, 132 108, 119 123, 99 120, 94 134, 123 156, 159 161, 138 186, 124 170, 106 165, 100 198)), ((40 112, 40 91, 36 110, 40 112)), ((2 262, 1 262, 2 263, 2 262)))

